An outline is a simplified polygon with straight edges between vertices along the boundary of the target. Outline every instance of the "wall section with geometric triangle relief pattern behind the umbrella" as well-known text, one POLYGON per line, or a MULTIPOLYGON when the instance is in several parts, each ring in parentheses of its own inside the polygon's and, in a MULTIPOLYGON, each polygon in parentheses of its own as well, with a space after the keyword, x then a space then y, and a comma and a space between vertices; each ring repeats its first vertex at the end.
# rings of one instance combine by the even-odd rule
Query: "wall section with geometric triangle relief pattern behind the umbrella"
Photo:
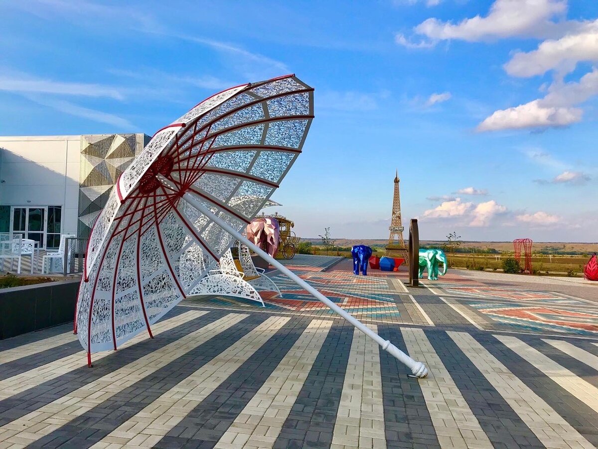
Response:
POLYGON ((106 205, 114 184, 149 142, 145 134, 81 136, 79 174, 79 238, 87 239, 106 205))

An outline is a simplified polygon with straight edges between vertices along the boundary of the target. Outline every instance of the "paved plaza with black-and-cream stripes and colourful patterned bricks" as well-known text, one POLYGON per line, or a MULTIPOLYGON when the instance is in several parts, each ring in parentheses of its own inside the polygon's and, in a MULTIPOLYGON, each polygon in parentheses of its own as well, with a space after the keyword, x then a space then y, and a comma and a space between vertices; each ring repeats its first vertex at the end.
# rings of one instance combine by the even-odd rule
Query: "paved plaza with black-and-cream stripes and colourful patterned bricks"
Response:
POLYGON ((274 271, 266 308, 187 299, 93 368, 72 324, 0 341, 0 449, 598 446, 598 286, 286 265, 428 378, 274 271))

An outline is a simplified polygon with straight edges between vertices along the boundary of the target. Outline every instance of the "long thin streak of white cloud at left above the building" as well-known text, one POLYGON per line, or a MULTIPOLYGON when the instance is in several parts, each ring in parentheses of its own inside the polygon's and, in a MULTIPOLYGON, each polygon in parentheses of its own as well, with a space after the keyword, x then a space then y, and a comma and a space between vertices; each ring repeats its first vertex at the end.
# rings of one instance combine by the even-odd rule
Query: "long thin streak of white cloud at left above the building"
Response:
POLYGON ((19 93, 52 93, 58 95, 108 97, 121 100, 123 93, 101 84, 65 83, 62 81, 32 79, 29 75, 0 76, 0 90, 19 93))

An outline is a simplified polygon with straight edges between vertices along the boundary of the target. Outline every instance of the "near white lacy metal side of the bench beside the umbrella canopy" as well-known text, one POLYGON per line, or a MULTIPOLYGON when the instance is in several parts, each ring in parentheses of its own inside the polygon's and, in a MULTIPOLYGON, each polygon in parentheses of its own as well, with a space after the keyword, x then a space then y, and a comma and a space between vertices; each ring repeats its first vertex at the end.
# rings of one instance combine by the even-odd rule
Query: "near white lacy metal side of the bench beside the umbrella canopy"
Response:
POLYGON ((243 280, 243 273, 237 269, 230 248, 220 258, 219 267, 210 270, 191 290, 190 295, 235 296, 257 301, 266 307, 255 287, 243 280))

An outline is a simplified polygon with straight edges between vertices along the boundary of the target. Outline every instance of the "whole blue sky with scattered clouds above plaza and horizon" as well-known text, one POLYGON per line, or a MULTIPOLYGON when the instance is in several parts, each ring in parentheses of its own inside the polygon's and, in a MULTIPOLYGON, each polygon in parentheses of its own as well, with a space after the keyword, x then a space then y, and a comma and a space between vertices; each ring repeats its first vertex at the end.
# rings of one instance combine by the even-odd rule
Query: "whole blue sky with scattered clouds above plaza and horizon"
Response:
POLYGON ((299 235, 598 240, 598 2, 0 4, 0 135, 145 132, 295 73, 315 87, 273 199, 299 235))

